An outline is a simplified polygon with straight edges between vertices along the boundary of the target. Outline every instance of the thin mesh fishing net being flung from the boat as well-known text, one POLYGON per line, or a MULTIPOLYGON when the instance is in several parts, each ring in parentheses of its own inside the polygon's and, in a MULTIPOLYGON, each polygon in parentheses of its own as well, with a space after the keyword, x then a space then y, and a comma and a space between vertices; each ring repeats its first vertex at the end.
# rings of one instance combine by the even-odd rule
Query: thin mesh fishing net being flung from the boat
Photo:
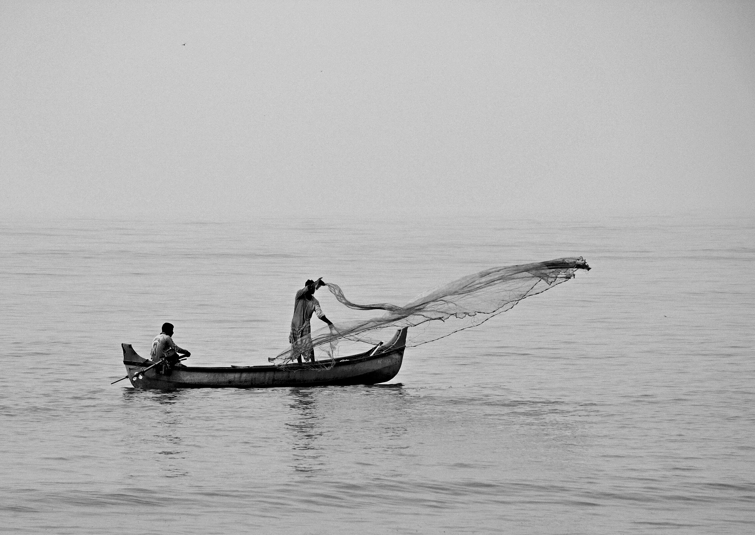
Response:
MULTIPOLYGON (((506 312, 525 297, 541 294, 573 278, 577 269, 590 269, 590 266, 578 257, 485 269, 427 291, 404 306, 358 305, 348 300, 337 284, 327 283, 328 290, 344 306, 355 310, 384 310, 385 313, 374 318, 338 322, 314 331, 311 347, 318 360, 332 361, 337 356, 339 343, 344 340, 377 345, 381 340, 389 340, 396 329, 424 324, 421 329, 408 331, 406 346, 419 346, 506 312)), ((308 351, 309 340, 305 345, 308 351)), ((296 362, 303 349, 302 344, 294 344, 268 360, 285 366, 296 362)))

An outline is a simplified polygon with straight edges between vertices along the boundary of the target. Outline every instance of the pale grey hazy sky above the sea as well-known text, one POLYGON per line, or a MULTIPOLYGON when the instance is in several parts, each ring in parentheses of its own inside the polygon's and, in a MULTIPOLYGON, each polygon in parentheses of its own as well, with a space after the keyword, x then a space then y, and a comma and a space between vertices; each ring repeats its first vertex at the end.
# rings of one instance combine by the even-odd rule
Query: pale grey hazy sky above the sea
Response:
POLYGON ((755 2, 0 5, 0 217, 753 214, 755 2))

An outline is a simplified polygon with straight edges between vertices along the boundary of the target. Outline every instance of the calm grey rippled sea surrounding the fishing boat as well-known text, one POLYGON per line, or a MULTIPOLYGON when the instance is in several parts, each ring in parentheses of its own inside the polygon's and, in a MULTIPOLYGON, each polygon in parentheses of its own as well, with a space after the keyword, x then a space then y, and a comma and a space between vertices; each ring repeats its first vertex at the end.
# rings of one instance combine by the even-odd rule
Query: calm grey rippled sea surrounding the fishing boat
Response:
POLYGON ((8 533, 755 531, 753 220, 5 222, 0 258, 8 533), (306 278, 406 303, 579 255, 387 385, 109 385, 163 321, 266 364, 306 278))

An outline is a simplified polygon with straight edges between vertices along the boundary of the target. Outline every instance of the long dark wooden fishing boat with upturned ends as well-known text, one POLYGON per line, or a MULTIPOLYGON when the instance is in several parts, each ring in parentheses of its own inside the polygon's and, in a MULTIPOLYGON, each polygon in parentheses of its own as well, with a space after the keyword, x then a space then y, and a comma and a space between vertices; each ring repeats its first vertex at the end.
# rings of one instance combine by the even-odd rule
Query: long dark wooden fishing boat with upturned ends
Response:
POLYGON ((364 353, 315 364, 279 366, 174 367, 160 374, 158 367, 123 343, 123 364, 137 389, 270 388, 273 386, 373 385, 390 381, 401 369, 408 327, 399 329, 383 346, 364 353))

